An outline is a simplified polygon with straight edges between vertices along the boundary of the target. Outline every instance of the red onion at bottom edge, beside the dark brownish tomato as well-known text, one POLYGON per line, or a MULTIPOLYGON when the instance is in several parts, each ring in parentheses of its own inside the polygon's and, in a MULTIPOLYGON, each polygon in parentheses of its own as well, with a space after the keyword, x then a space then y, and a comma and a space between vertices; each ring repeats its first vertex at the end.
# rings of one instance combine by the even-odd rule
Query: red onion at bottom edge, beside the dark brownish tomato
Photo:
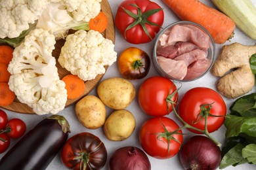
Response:
POLYGON ((117 149, 110 158, 110 170, 150 170, 148 156, 135 146, 125 146, 117 149))

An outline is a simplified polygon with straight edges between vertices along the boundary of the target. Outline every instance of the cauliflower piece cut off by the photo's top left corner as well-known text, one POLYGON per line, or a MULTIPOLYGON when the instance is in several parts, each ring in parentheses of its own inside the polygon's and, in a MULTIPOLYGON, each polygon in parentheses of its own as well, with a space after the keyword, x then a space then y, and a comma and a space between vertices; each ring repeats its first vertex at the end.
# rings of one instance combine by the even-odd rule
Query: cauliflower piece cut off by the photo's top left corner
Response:
POLYGON ((29 29, 30 24, 35 23, 47 4, 48 0, 1 0, 0 38, 18 37, 22 31, 29 29), (30 9, 30 7, 33 8, 30 9))

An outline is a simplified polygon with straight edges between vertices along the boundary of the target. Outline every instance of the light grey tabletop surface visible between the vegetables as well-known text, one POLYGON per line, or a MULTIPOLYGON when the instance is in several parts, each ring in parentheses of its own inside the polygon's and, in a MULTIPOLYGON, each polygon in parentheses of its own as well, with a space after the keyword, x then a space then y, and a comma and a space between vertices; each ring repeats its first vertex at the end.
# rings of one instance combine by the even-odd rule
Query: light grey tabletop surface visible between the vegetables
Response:
MULTIPOLYGON (((255 3, 255 0, 253 0, 253 1, 255 3)), ((175 16, 175 14, 170 9, 168 9, 168 7, 165 6, 162 3, 162 1, 155 0, 155 2, 158 3, 164 10, 165 20, 163 23, 163 27, 166 27, 167 25, 169 25, 173 22, 179 21, 179 18, 177 18, 177 16, 175 16)), ((211 3, 211 1, 205 0, 202 2, 205 3, 206 5, 214 7, 214 5, 213 5, 213 3, 211 3)), ((109 3, 111 6, 111 9, 112 9, 113 16, 116 16, 116 10, 117 10, 117 7, 119 6, 119 4, 121 3, 121 0, 120 1, 109 0, 109 3)), ((244 35, 244 33, 242 33, 242 31, 240 31, 240 29, 238 29, 238 28, 235 29, 234 33, 235 33, 234 38, 232 38, 230 41, 227 41, 225 44, 231 44, 233 42, 240 42, 241 44, 253 45, 256 42, 255 40, 252 40, 249 37, 247 37, 246 35, 244 35)), ((116 29, 115 50, 117 52, 117 55, 119 55, 122 50, 125 50, 125 48, 128 48, 129 46, 136 46, 137 48, 140 48, 140 49, 144 50, 145 52, 147 52, 152 57, 152 51, 153 51, 153 46, 154 46, 155 41, 156 41, 156 39, 154 39, 152 42, 149 42, 146 44, 139 44, 139 45, 130 44, 130 43, 126 42, 123 39, 123 37, 121 37, 119 31, 117 31, 117 29, 116 29)), ((221 46, 223 46, 223 44, 216 45, 217 52, 215 54, 215 57, 217 57, 217 55, 219 54, 219 50, 220 50, 221 46)), ((148 76, 146 76, 146 78, 148 78, 150 76, 154 76, 154 75, 158 75, 158 73, 156 72, 153 64, 151 63, 150 73, 148 74, 148 76)), ((117 62, 108 68, 108 70, 106 71, 106 74, 104 75, 102 80, 104 80, 106 78, 114 77, 114 76, 121 77, 119 70, 117 69, 117 62)), ((132 80, 131 81, 134 84, 137 92, 138 92, 140 84, 146 78, 143 78, 142 80, 132 80)), ((187 90, 197 87, 197 86, 213 88, 214 90, 216 90, 215 83, 217 80, 218 79, 216 77, 214 77, 213 75, 211 75, 211 73, 207 73, 207 75, 203 76, 199 80, 195 80, 193 82, 182 83, 182 88, 179 91, 180 99, 182 98, 182 95, 184 95, 184 93, 187 90)), ((179 86, 179 84, 177 82, 175 82, 175 84, 177 84, 177 86, 179 86)), ((253 89, 252 92, 255 92, 255 88, 253 89)), ((93 90, 93 92, 91 92, 90 94, 97 95, 96 89, 93 90)), ((223 97, 223 98, 226 102, 227 108, 229 108, 230 104, 234 100, 227 99, 226 97, 223 97)), ((102 128, 90 130, 90 129, 86 129, 85 127, 83 127, 81 124, 79 124, 77 117, 75 116, 74 105, 67 107, 66 109, 62 110, 59 114, 65 116, 66 119, 68 120, 68 122, 70 123, 72 132, 70 133, 69 137, 72 137, 73 135, 80 133, 80 132, 84 132, 84 131, 88 131, 88 132, 93 133, 94 135, 98 136, 103 141, 103 143, 105 144, 105 146, 108 150, 108 161, 109 161, 110 156, 112 156, 112 153, 117 148, 120 148, 123 146, 137 146, 137 147, 141 148, 140 143, 139 143, 139 129, 140 129, 140 126, 142 125, 142 123, 145 120, 147 120, 148 118, 150 118, 150 116, 147 116, 144 112, 142 112, 142 110, 140 109, 140 107, 138 105, 137 97, 135 97, 133 103, 131 103, 131 105, 129 105, 129 107, 127 107, 126 109, 133 113, 133 115, 136 118, 137 125, 136 125, 135 131, 133 132, 131 137, 129 137, 129 139, 126 139, 125 141, 109 141, 108 139, 106 139, 102 128)), ((34 115, 18 114, 16 112, 11 112, 9 110, 5 110, 5 111, 7 112, 9 118, 21 118, 22 120, 24 120, 24 122, 26 122, 26 125, 27 125, 27 132, 30 129, 32 129, 37 123, 39 123, 41 120, 43 120, 43 118, 45 117, 45 116, 38 116, 36 114, 34 114, 34 115)), ((107 111, 108 111, 107 113, 109 115, 113 110, 107 108, 107 111)), ((228 113, 228 110, 227 110, 227 113, 228 113)), ((169 114, 167 117, 173 118, 173 120, 177 120, 173 114, 169 114)), ((179 125, 181 125, 179 123, 179 121, 177 121, 177 122, 179 125)), ((184 132, 186 132, 186 131, 184 131, 184 132)), ((184 142, 186 142, 186 139, 188 139, 189 137, 194 135, 190 132, 188 132, 188 133, 190 135, 184 136, 184 142)), ((212 135, 219 142, 224 144, 224 133, 225 133, 225 127, 222 126, 218 131, 215 131, 214 133, 212 133, 212 135)), ((18 141, 18 139, 12 140, 11 146, 13 146, 17 141, 18 141)), ((0 154, 0 158, 2 156, 3 156, 3 154, 0 154)), ((152 158, 150 156, 148 156, 148 158, 150 159, 152 169, 161 169, 161 170, 182 169, 178 155, 173 158, 169 158, 167 160, 158 160, 158 159, 152 158)), ((18 159, 18 156, 17 156, 17 159, 18 159)), ((104 169, 108 169, 108 161, 107 161, 104 169)), ((47 168, 47 170, 53 170, 53 169, 66 169, 66 167, 62 164, 62 161, 60 160, 60 153, 57 154, 57 156, 54 158, 54 160, 51 162, 51 164, 47 168)), ((238 167, 227 167, 226 169, 247 169, 247 170, 249 170, 249 169, 256 169, 256 166, 244 164, 244 165, 239 165, 238 167)))

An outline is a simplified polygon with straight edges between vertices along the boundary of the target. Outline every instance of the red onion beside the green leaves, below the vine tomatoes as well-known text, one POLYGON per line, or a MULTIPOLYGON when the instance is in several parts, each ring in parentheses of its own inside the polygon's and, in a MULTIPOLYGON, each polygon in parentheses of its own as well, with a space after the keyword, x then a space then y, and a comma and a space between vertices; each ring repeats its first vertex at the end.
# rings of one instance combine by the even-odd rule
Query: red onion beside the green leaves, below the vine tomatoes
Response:
POLYGON ((196 135, 182 146, 180 160, 184 169, 217 169, 221 163, 221 149, 208 137, 196 135))

